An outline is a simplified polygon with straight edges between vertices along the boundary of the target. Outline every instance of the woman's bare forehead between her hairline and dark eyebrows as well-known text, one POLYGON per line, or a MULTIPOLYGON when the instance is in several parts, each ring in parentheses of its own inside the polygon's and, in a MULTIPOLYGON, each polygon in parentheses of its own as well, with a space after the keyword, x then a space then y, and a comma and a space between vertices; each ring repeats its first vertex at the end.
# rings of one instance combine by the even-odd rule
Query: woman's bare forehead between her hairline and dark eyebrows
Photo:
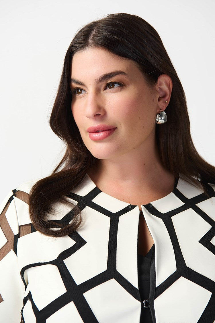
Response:
POLYGON ((86 48, 74 54, 71 65, 71 76, 86 77, 86 75, 99 75, 110 70, 123 70, 131 73, 137 65, 134 61, 113 54, 100 47, 86 48))

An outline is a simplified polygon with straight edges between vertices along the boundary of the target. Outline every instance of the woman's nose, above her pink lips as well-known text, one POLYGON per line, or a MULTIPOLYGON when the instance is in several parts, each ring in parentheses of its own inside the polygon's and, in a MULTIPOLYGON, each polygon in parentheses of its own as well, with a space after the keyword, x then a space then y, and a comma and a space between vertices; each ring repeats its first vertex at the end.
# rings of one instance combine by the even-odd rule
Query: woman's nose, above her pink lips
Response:
POLYGON ((88 94, 85 104, 85 115, 87 118, 92 119, 105 114, 103 99, 98 94, 88 94))

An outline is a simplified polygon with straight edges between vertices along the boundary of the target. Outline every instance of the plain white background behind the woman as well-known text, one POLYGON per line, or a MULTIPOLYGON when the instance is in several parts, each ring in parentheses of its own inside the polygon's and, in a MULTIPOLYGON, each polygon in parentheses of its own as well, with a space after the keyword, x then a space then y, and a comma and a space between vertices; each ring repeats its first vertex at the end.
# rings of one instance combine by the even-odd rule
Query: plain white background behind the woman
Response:
POLYGON ((158 31, 185 90, 194 144, 215 165, 214 9, 212 0, 1 0, 0 200, 63 156, 48 120, 64 55, 79 28, 110 13, 141 16, 158 31))

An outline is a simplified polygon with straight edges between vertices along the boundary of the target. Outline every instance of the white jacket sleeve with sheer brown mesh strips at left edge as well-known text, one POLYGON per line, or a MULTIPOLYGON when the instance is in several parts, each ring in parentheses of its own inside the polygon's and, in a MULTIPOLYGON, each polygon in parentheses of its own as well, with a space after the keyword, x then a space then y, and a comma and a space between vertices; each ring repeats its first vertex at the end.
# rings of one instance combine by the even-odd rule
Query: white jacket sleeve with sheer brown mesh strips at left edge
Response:
POLYGON ((16 253, 20 236, 15 199, 11 191, 0 206, 0 321, 21 322, 24 283, 20 276, 16 253))

